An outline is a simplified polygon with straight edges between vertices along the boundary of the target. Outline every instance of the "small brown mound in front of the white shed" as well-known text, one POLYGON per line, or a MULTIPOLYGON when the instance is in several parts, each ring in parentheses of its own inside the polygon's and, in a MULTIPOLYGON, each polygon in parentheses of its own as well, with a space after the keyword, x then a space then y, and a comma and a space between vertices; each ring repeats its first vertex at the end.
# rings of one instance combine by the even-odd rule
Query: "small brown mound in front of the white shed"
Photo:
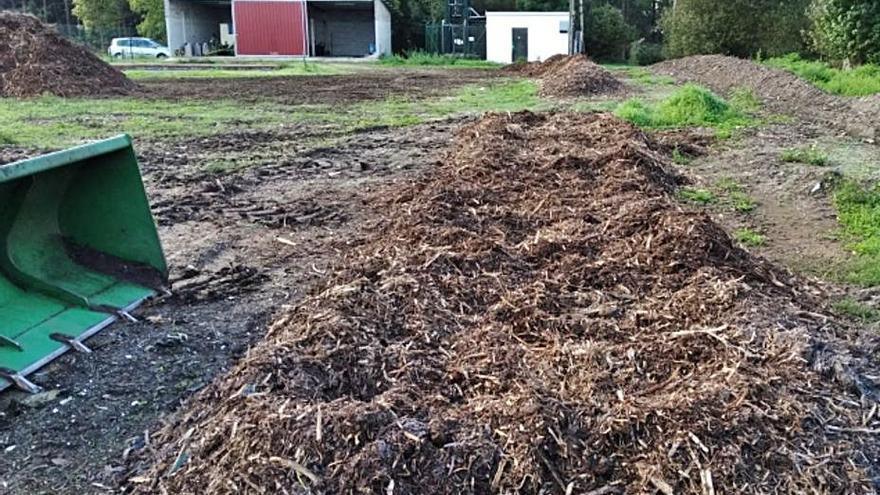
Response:
POLYGON ((586 55, 557 60, 541 74, 541 94, 545 96, 591 96, 622 89, 623 83, 586 55))

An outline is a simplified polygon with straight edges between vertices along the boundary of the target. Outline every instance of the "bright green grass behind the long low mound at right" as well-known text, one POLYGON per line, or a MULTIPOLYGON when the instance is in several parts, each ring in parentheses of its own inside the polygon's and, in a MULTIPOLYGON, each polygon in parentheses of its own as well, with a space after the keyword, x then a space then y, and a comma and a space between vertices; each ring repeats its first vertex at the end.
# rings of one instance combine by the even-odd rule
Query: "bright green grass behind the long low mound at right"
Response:
POLYGON ((810 81, 824 91, 843 96, 868 96, 880 93, 880 65, 865 64, 853 69, 838 69, 825 62, 804 60, 791 53, 764 61, 810 81))

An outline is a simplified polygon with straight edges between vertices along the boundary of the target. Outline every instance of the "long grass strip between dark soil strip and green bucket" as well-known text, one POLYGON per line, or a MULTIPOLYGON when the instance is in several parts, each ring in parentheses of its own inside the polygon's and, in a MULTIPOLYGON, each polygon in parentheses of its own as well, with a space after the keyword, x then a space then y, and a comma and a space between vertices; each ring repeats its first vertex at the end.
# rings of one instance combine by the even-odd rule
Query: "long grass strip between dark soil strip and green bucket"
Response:
MULTIPOLYGON (((131 134, 135 139, 160 140, 295 123, 328 125, 336 132, 350 132, 414 125, 454 115, 539 110, 546 106, 538 97, 536 84, 522 79, 464 86, 447 96, 390 98, 332 107, 228 99, 0 98, 0 140, 38 149, 58 149, 120 133, 131 134)), ((218 170, 229 167, 225 163, 216 165, 218 170)))

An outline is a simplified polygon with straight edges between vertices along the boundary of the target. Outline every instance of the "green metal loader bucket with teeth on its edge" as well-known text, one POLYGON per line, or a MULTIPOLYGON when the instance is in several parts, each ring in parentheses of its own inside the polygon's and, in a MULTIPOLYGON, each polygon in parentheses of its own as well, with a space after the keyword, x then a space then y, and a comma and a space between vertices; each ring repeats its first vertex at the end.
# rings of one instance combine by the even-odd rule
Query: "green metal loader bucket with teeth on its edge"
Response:
POLYGON ((0 390, 158 291, 168 268, 131 139, 0 166, 0 390))

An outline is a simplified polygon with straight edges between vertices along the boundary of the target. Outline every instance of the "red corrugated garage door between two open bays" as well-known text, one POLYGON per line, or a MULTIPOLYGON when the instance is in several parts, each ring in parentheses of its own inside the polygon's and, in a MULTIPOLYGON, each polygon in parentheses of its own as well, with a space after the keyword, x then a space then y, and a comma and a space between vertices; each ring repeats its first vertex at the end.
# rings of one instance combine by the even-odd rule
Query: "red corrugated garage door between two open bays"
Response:
POLYGON ((234 0, 235 49, 239 55, 305 55, 305 2, 234 0))

